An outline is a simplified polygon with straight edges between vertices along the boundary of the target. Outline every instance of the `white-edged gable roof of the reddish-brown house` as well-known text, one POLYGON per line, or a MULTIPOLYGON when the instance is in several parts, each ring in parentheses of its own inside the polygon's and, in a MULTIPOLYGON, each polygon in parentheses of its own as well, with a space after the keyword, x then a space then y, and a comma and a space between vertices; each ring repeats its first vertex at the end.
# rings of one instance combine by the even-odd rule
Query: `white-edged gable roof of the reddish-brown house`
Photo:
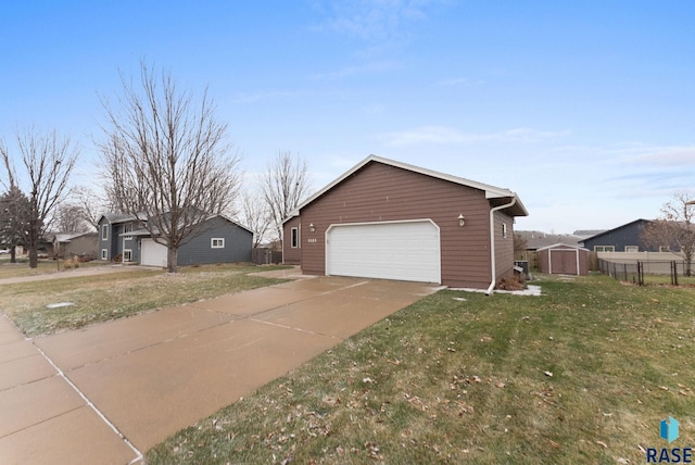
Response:
POLYGON ((418 174, 421 174, 421 175, 425 175, 425 176, 430 176, 430 177, 433 177, 433 178, 437 178, 437 179, 442 179, 442 180, 446 180, 446 181, 450 181, 450 183, 458 184, 458 185, 462 185, 462 186, 470 187, 470 188, 473 188, 473 189, 482 190, 482 191, 485 192, 485 199, 510 199, 510 198, 514 198, 514 199, 516 199, 516 203, 515 203, 514 206, 508 209, 508 210, 511 211, 511 214, 514 216, 528 216, 529 215, 528 210, 526 209, 526 206, 523 206, 523 203, 521 203, 521 199, 519 199, 519 197, 516 194, 516 192, 513 192, 509 189, 503 189, 503 188, 500 188, 500 187, 490 186, 488 184, 478 183, 478 181, 470 180, 470 179, 465 179, 465 178, 458 177, 458 176, 447 175, 447 174, 435 172, 435 171, 432 171, 432 169, 427 169, 427 168, 424 168, 424 167, 420 167, 420 166, 410 165, 408 163, 403 163, 403 162, 397 162, 395 160, 384 159, 382 156, 369 155, 366 159, 364 159, 363 161, 361 161, 359 163, 357 163, 352 168, 348 169, 345 173, 343 173, 340 177, 334 179, 332 183, 328 184, 326 187, 320 189, 318 192, 314 193, 312 197, 309 197, 304 202, 302 202, 296 209, 294 209, 294 211, 292 213, 290 213, 290 216, 288 218, 286 218, 285 222, 287 222, 288 219, 290 219, 293 216, 299 215, 300 210, 302 210, 303 208, 305 208, 309 203, 314 202, 319 197, 324 196, 326 192, 328 192, 333 187, 336 187, 339 184, 341 184, 343 180, 345 180, 346 178, 349 178, 354 173, 358 172, 359 169, 362 169, 364 166, 366 166, 369 163, 381 163, 381 164, 384 164, 384 165, 389 165, 389 166, 394 166, 394 167, 397 167, 397 168, 406 169, 406 171, 409 171, 409 172, 413 172, 413 173, 418 173, 418 174))

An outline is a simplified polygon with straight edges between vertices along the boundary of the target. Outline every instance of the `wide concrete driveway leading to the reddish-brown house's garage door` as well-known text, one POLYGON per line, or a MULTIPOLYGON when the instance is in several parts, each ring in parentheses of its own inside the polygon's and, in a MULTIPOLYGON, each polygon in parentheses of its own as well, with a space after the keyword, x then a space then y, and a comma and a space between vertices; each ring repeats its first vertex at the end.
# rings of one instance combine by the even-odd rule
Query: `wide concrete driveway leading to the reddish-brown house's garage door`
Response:
POLYGON ((435 290, 302 278, 34 340, 0 317, 0 463, 138 463, 435 290))

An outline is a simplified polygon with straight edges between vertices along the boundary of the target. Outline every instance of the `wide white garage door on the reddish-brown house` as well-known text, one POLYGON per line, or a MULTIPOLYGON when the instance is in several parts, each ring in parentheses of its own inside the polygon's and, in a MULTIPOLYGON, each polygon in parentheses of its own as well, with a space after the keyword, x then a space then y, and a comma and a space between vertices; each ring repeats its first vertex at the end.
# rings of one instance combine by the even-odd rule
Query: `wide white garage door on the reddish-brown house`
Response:
POLYGON ((439 227, 429 219, 332 225, 326 274, 441 282, 439 227))

